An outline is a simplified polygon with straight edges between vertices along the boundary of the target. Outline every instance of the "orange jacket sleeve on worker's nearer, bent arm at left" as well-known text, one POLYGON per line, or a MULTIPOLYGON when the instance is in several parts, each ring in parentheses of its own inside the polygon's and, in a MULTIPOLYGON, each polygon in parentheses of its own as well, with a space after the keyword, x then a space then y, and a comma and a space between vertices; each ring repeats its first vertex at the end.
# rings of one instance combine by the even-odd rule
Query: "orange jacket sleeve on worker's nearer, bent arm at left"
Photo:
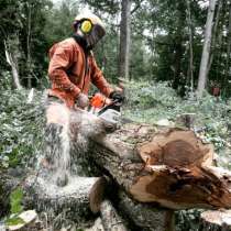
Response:
POLYGON ((57 45, 50 62, 48 77, 55 88, 70 92, 74 99, 76 99, 80 94, 80 89, 69 80, 66 73, 72 64, 73 53, 72 45, 57 45))

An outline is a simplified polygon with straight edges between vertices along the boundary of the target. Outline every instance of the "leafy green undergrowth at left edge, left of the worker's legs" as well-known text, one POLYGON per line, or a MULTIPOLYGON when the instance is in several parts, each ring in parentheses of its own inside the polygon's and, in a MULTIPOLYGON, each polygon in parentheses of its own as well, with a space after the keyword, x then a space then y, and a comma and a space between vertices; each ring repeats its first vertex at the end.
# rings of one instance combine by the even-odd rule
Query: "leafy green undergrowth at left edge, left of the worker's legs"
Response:
POLYGON ((28 90, 0 94, 0 168, 29 164, 29 160, 40 151, 43 92, 36 91, 31 103, 28 96, 28 90))

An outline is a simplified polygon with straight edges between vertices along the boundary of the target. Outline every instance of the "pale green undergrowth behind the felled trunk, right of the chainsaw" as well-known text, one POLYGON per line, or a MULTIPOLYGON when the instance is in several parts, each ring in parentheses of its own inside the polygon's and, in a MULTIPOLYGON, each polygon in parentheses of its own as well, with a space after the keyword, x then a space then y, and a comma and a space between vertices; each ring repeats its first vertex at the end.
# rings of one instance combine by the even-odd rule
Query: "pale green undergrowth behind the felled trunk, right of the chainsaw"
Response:
MULTIPOLYGON (((128 106, 124 116, 138 122, 156 123, 158 120, 175 121, 183 113, 196 114, 196 127, 205 142, 212 142, 222 152, 229 140, 231 103, 208 94, 200 100, 193 95, 188 99, 177 96, 167 82, 129 82, 128 106)), ((222 154, 222 153, 221 153, 222 154)))

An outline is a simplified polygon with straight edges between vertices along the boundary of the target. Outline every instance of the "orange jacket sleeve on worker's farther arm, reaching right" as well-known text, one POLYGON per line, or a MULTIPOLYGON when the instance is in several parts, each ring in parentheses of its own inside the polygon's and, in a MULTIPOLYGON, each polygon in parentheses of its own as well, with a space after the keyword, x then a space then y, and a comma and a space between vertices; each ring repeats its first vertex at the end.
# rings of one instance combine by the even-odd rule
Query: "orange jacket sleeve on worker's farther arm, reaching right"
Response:
POLYGON ((91 59, 91 81, 92 84, 107 97, 113 91, 106 78, 103 77, 102 72, 97 66, 96 59, 91 59))

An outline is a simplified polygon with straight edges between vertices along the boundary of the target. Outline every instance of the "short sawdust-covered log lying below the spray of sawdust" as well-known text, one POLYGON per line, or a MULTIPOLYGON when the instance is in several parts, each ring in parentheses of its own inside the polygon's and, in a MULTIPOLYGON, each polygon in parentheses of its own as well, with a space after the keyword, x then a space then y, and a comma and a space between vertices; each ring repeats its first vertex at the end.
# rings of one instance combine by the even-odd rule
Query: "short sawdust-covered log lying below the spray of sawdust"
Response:
POLYGON ((103 200, 106 184, 103 177, 70 177, 68 185, 58 187, 41 177, 30 176, 24 184, 24 204, 31 204, 37 211, 52 209, 58 213, 67 209, 85 216, 91 209, 96 213, 103 200))

